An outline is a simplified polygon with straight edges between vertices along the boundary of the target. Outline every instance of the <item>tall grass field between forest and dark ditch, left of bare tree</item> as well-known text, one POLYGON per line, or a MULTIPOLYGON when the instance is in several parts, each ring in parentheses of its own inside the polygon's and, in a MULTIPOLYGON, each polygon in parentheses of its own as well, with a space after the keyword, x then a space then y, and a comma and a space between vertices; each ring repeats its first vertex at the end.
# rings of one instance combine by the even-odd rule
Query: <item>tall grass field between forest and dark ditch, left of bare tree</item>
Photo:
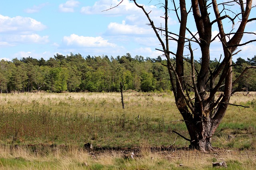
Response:
POLYGON ((168 145, 173 129, 185 130, 183 123, 171 123, 181 117, 170 94, 127 93, 124 98, 123 110, 117 93, 2 94, 0 139, 109 147, 147 139, 152 145, 168 145))

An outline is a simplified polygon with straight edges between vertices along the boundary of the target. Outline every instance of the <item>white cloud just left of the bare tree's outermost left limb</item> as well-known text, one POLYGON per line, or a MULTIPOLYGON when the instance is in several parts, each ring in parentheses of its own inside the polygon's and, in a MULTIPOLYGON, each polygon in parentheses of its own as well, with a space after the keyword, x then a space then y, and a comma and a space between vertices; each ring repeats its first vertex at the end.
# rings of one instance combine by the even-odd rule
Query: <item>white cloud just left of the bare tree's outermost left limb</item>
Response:
POLYGON ((150 27, 147 29, 137 25, 127 25, 122 21, 122 24, 111 22, 106 33, 108 35, 150 35, 153 31, 150 27))

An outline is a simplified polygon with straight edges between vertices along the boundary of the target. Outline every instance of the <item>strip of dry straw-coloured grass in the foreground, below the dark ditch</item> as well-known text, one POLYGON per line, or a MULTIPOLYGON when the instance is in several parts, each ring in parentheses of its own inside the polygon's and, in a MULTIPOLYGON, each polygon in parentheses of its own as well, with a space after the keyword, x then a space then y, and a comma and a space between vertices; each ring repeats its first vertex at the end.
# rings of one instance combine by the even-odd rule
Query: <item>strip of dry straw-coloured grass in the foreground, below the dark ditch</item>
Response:
POLYGON ((79 147, 49 149, 33 154, 26 148, 10 150, 0 147, 0 169, 22 170, 71 170, 71 169, 212 169, 212 162, 225 161, 228 169, 252 170, 256 168, 255 151, 220 150, 202 153, 193 150, 150 150, 140 148, 134 159, 124 158, 120 151, 108 150, 92 154, 79 147), (11 154, 10 154, 11 153, 11 154))

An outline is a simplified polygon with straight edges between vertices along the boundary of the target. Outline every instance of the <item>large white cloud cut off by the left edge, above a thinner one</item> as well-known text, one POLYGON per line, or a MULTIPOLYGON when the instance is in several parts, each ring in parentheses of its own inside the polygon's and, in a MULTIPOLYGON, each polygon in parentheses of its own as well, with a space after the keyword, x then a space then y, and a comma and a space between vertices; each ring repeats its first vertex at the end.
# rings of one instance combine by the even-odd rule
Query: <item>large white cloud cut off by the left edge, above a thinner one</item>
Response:
POLYGON ((39 21, 21 16, 10 18, 0 15, 0 25, 0 32, 2 33, 41 31, 46 28, 46 26, 39 21))

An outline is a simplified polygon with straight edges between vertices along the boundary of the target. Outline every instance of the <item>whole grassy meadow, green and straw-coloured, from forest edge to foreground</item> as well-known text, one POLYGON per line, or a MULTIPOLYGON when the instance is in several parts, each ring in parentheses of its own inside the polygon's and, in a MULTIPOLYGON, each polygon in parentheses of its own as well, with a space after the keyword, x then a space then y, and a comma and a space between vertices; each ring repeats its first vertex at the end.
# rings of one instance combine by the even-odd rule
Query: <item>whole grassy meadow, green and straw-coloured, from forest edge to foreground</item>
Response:
POLYGON ((172 92, 124 92, 124 103, 120 93, 0 94, 0 169, 256 169, 255 92, 232 96, 249 108, 228 107, 209 153, 172 132, 189 138, 172 92))

